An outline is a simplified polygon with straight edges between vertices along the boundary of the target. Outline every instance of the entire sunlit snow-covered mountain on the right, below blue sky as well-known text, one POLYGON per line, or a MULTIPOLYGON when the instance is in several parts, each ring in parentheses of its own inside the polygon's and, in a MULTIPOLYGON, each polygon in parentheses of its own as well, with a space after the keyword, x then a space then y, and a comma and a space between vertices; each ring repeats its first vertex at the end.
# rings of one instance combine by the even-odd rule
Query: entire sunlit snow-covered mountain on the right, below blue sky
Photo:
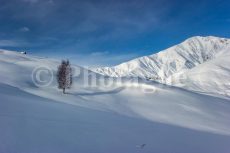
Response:
MULTIPOLYGON (((226 77, 230 74, 228 68, 230 65, 229 53, 230 39, 196 36, 159 53, 137 58, 115 67, 97 68, 95 72, 112 77, 141 77, 191 90, 212 92, 209 91, 208 86, 202 87, 202 83, 193 85, 193 87, 189 86, 193 84, 191 82, 197 82, 197 79, 200 79, 202 75, 204 80, 200 81, 207 82, 205 79, 208 79, 210 85, 215 82, 220 86, 215 91, 221 89, 222 92, 219 93, 226 94, 224 89, 229 88, 230 83, 226 77), (223 58, 225 60, 222 60, 223 58), (198 66, 202 67, 203 64, 205 64, 206 70, 210 70, 210 72, 201 72, 202 68, 197 68, 197 72, 194 72, 195 70, 193 73, 188 72, 198 66), (217 75, 221 75, 219 74, 220 71, 224 77, 217 77, 217 75), (192 77, 191 75, 195 73, 196 77, 192 77), (204 73, 206 77, 204 77, 204 73), (211 78, 208 76, 210 73, 212 74, 211 78)), ((227 94, 230 92, 228 91, 227 94)))

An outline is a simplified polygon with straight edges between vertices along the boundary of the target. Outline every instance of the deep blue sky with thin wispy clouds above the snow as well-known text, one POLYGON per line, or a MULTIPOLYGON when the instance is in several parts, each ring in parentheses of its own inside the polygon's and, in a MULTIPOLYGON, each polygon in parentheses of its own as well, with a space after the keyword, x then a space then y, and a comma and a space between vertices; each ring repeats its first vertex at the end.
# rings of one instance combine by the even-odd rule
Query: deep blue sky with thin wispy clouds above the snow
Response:
POLYGON ((191 36, 230 37, 230 0, 0 0, 0 48, 110 66, 191 36))

